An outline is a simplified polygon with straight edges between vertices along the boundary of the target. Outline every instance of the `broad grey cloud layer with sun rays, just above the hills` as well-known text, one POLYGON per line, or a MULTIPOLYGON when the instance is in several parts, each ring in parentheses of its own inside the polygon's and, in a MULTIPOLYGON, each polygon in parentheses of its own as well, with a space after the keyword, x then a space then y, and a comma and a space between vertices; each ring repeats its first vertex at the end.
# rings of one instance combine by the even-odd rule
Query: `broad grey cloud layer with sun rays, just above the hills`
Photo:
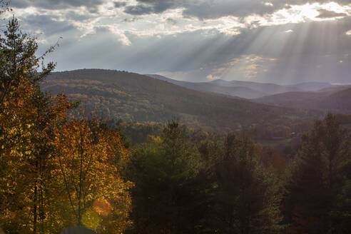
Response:
POLYGON ((185 81, 220 77, 273 83, 350 82, 351 60, 345 57, 351 54, 351 38, 345 35, 350 23, 351 19, 344 19, 267 26, 245 29, 237 36, 203 36, 204 31, 161 38, 126 34, 126 44, 133 46, 123 46, 112 29, 99 29, 78 44, 60 46, 54 60, 59 70, 112 68, 185 81), (294 34, 285 33, 290 29, 294 34), (328 29, 335 40, 318 34, 322 29, 328 29))

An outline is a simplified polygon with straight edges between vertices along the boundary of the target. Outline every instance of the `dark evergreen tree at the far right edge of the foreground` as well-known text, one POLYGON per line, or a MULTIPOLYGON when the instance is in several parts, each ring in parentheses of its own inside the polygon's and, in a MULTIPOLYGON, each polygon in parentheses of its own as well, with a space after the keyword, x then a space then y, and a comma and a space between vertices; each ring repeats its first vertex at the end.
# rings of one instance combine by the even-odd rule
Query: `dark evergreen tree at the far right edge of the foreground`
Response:
POLYGON ((292 233, 344 233, 350 228, 350 209, 345 209, 350 205, 350 152, 350 135, 332 113, 302 137, 283 202, 292 233))

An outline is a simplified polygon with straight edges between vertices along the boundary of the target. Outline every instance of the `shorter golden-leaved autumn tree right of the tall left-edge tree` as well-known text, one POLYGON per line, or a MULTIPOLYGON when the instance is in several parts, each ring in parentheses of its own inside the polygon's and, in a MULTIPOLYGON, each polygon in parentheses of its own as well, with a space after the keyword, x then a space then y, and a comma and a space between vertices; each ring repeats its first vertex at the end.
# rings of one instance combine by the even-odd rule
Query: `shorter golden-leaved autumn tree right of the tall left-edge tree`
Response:
POLYGON ((56 180, 65 191, 73 225, 121 233, 131 224, 128 190, 133 183, 121 171, 129 153, 116 131, 93 131, 92 123, 98 128, 98 121, 83 118, 55 128, 56 180))

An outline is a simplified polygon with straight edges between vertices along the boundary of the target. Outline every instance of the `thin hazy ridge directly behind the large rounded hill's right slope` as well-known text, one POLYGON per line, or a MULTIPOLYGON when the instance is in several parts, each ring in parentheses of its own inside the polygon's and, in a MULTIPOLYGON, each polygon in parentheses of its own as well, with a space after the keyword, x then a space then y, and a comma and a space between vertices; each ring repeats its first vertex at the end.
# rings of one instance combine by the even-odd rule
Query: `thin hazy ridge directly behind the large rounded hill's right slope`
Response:
POLYGON ((256 91, 252 88, 242 87, 242 86, 220 86, 211 82, 188 82, 188 81, 176 81, 171 78, 167 78, 165 76, 160 76, 156 74, 148 74, 146 76, 150 76, 153 78, 157 78, 162 81, 167 81, 170 83, 174 83, 178 86, 183 86, 185 88, 193 89, 196 91, 203 91, 206 93, 217 93, 223 96, 230 96, 234 98, 260 98, 262 96, 266 96, 267 93, 263 93, 260 91, 256 91))

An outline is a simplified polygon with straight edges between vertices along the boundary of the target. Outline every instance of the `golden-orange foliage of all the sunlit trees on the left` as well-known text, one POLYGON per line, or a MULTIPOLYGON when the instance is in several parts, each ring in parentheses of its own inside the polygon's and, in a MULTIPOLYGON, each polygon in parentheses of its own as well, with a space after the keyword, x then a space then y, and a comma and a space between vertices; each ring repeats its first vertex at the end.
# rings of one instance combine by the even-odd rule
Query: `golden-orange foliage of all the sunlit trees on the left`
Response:
MULTIPOLYGON (((71 193, 66 193, 65 188, 71 192, 71 187, 63 185, 60 173, 76 170, 73 165, 64 168, 68 164, 63 162, 71 157, 64 150, 71 146, 70 150, 75 152, 72 141, 77 135, 72 131, 80 129, 80 124, 86 126, 86 122, 69 118, 68 111, 76 103, 70 103, 66 96, 59 94, 53 98, 41 91, 39 82, 54 68, 54 63, 45 66, 43 59, 54 47, 40 57, 36 56, 37 49, 36 40, 19 31, 18 21, 9 21, 0 40, 0 223, 6 233, 59 233, 76 224, 73 222, 76 213, 70 211, 72 203, 66 199, 71 193), (41 72, 37 71, 39 68, 41 72), (57 141, 60 138, 55 136, 62 135, 71 138, 57 141)), ((90 128, 84 129, 89 138, 84 138, 81 145, 98 160, 90 161, 93 173, 84 174, 83 182, 93 185, 80 184, 88 188, 81 191, 89 198, 86 210, 82 210, 87 212, 81 212, 80 216, 86 218, 86 225, 91 225, 96 213, 99 225, 94 228, 100 231, 102 228, 103 233, 105 230, 121 233, 130 224, 131 202, 126 190, 131 183, 126 183, 120 173, 128 152, 116 131, 103 132, 96 128, 90 138, 90 128), (92 148, 98 151, 91 151, 92 148), (108 215, 101 213, 103 208, 98 203, 94 205, 92 199, 98 199, 96 195, 111 206, 108 215)))

